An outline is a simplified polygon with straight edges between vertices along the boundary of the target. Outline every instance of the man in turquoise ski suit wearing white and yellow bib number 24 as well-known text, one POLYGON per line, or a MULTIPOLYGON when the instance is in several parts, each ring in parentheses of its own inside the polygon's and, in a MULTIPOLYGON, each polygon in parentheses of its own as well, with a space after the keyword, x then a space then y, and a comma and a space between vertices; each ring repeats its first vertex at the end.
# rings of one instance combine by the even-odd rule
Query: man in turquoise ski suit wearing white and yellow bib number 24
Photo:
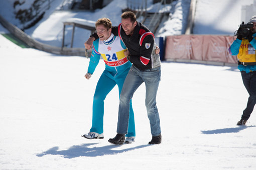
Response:
MULTIPOLYGON (((111 33, 111 21, 108 18, 100 18, 95 23, 95 26, 99 38, 93 42, 93 50, 85 78, 89 79, 93 74, 99 62, 100 55, 105 62, 105 70, 98 80, 93 97, 91 129, 88 134, 82 135, 89 139, 104 137, 104 99, 116 84, 118 85, 120 95, 124 79, 132 66, 132 63, 125 55, 127 54, 126 46, 118 36, 114 36, 111 33)), ((132 143, 135 136, 135 120, 131 100, 129 128, 128 133, 126 134, 125 143, 132 143)))

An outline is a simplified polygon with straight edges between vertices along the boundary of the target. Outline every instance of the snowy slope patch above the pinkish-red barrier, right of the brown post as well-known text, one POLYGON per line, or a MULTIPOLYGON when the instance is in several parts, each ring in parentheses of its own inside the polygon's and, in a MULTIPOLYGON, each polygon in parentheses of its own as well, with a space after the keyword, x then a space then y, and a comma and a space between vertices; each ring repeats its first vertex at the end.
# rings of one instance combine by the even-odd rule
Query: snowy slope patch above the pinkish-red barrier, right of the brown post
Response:
POLYGON ((241 24, 242 5, 250 4, 253 0, 197 0, 193 33, 233 35, 241 24))

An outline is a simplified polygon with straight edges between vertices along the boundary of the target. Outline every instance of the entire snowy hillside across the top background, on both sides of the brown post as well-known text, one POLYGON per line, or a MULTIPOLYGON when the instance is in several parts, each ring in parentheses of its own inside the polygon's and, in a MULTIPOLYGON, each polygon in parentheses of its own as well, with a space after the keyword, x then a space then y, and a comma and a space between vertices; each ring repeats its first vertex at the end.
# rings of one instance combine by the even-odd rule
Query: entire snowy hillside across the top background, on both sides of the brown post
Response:
MULTIPOLYGON (((18 27, 23 27, 15 18, 14 1, 0 1, 0 14, 18 27)), ((121 9, 127 7, 126 1, 113 0, 103 9, 96 9, 94 12, 58 10, 62 4, 62 0, 52 0, 44 17, 35 26, 25 29, 25 32, 40 42, 61 46, 63 22, 67 19, 81 18, 96 21, 100 17, 109 17, 112 24, 117 25, 120 22, 121 9)), ((197 0, 193 33, 233 35, 241 23, 241 6, 250 4, 253 4, 253 0, 197 0)), ((169 11, 171 14, 168 20, 161 23, 156 36, 165 37, 184 33, 189 5, 190 0, 176 0, 172 3, 172 7, 162 5, 160 12, 169 11)), ((28 8, 29 3, 21 6, 28 8)), ((153 0, 148 0, 148 11, 154 12, 158 6, 158 3, 153 5, 153 0)), ((70 47, 71 34, 72 26, 68 26, 65 32, 65 46, 67 47, 70 47)), ((76 28, 73 47, 84 47, 84 41, 89 35, 89 30, 76 28)))

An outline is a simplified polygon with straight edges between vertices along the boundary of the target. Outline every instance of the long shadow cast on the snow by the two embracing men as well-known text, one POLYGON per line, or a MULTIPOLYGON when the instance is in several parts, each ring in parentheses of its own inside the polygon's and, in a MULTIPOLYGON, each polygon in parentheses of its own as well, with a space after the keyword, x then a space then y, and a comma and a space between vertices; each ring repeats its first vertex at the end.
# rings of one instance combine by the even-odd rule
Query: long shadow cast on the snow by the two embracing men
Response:
POLYGON ((136 147, 125 148, 125 149, 121 149, 121 150, 112 150, 114 148, 118 148, 121 146, 121 145, 114 145, 114 144, 101 146, 101 147, 91 147, 91 148, 88 147, 93 144, 98 144, 98 143, 85 143, 82 145, 73 145, 70 148, 68 148, 67 150, 58 150, 59 147, 54 146, 54 147, 48 149, 47 151, 44 151, 43 153, 37 154, 37 156, 41 157, 46 154, 53 154, 53 155, 59 154, 59 155, 63 155, 65 158, 74 158, 74 157, 79 157, 79 156, 95 157, 95 156, 103 156, 106 154, 122 153, 125 151, 150 146, 149 144, 145 144, 145 145, 139 145, 136 147))

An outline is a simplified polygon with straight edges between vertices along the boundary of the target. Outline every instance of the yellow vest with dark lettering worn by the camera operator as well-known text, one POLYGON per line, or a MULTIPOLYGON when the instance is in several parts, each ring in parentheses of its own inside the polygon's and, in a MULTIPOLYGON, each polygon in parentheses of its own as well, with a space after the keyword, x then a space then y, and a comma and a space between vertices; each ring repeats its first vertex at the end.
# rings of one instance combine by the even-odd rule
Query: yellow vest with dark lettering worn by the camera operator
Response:
POLYGON ((240 62, 256 62, 255 48, 248 39, 242 39, 237 57, 240 62))

